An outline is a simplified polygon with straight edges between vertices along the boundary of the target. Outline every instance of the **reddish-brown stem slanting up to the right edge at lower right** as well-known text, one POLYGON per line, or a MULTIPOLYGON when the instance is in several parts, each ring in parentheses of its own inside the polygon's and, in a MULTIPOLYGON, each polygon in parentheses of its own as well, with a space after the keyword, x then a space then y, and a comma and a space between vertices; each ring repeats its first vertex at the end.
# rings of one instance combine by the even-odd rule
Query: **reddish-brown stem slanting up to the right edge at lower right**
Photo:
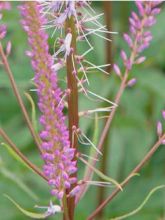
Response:
MULTIPOLYGON (((145 163, 152 157, 155 151, 159 148, 162 141, 165 139, 165 134, 154 144, 154 146, 150 149, 150 151, 146 154, 146 156, 140 161, 140 163, 130 172, 130 174, 125 178, 125 180, 121 183, 121 187, 127 185, 133 174, 138 173, 141 168, 145 165, 145 163)), ((116 187, 116 189, 112 192, 110 196, 88 217, 88 220, 94 219, 94 217, 120 192, 120 189, 116 187)))

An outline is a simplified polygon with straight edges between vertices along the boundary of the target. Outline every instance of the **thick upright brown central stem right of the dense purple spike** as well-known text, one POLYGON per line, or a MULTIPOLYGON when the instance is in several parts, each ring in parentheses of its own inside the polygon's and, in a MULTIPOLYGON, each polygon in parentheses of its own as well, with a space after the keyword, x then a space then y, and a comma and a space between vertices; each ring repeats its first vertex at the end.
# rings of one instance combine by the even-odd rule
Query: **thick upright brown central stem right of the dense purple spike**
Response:
MULTIPOLYGON (((77 80, 73 74, 75 72, 73 59, 76 52, 76 30, 73 16, 70 19, 68 18, 66 28, 72 34, 71 48, 73 49, 73 52, 71 52, 70 55, 67 57, 67 84, 70 91, 70 94, 68 96, 69 138, 71 147, 77 149, 78 140, 76 134, 73 133, 73 126, 78 128, 78 88, 77 80)), ((76 158, 74 158, 74 160, 76 160, 76 158)), ((75 173, 73 176, 75 177, 76 175, 77 174, 75 173)), ((73 187, 74 185, 72 186, 72 188, 73 187)), ((69 219, 73 220, 75 197, 68 198, 67 204, 69 219)))

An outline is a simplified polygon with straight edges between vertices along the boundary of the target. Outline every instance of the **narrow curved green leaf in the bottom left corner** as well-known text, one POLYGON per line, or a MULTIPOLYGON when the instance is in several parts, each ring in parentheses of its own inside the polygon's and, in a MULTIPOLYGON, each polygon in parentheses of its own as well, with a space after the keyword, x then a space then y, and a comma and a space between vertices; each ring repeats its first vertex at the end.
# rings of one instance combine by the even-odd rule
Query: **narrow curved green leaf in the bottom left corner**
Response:
POLYGON ((4 194, 4 196, 9 199, 24 215, 33 218, 33 219, 45 219, 49 215, 47 213, 35 213, 35 212, 30 212, 22 208, 17 202, 15 202, 10 196, 4 194))

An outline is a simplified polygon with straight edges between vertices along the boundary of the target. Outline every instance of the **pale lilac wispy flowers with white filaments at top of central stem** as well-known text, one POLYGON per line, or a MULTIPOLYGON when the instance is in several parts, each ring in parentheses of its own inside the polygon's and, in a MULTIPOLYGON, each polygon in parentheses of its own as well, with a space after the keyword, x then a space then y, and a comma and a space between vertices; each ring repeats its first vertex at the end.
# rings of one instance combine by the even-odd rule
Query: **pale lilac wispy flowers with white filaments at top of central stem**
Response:
MULTIPOLYGON (((91 70, 99 70, 100 72, 106 73, 104 70, 105 67, 110 64, 105 65, 95 65, 88 60, 86 60, 86 55, 94 50, 93 42, 90 42, 89 36, 96 35, 97 37, 102 38, 103 40, 108 40, 105 37, 105 33, 109 32, 104 25, 102 25, 99 21, 103 14, 96 14, 96 12, 90 6, 90 2, 83 1, 41 1, 41 5, 43 6, 43 15, 47 15, 48 22, 43 28, 53 29, 52 36, 58 32, 55 40, 55 53, 54 60, 56 64, 54 65, 55 70, 60 70, 65 67, 67 56, 72 54, 73 74, 75 75, 78 84, 83 87, 83 83, 88 81, 88 72, 91 70), (72 34, 69 28, 64 30, 66 27, 66 20, 68 18, 73 18, 75 25, 75 36, 78 44, 86 44, 85 47, 88 48, 86 51, 74 51, 71 48, 72 34), (75 68, 76 66, 76 68, 75 68), (82 73, 84 75, 85 80, 82 82, 78 78, 78 73, 82 73)), ((84 91, 85 88, 83 87, 84 91)))

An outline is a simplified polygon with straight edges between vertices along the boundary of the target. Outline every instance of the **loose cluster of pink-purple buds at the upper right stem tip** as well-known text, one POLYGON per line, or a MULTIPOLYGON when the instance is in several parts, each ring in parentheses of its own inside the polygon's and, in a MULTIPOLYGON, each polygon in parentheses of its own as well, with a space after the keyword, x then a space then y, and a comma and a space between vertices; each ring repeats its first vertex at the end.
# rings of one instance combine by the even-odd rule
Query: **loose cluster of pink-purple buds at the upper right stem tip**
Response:
MULTIPOLYGON (((160 13, 157 6, 161 1, 136 1, 138 13, 132 12, 129 18, 130 33, 123 35, 124 40, 130 48, 128 56, 124 50, 121 51, 121 58, 126 69, 129 71, 133 64, 140 64, 145 61, 145 57, 140 57, 140 53, 149 47, 152 34, 147 29, 156 23, 155 16, 160 13)), ((120 75, 120 69, 115 64, 114 70, 120 75)))

